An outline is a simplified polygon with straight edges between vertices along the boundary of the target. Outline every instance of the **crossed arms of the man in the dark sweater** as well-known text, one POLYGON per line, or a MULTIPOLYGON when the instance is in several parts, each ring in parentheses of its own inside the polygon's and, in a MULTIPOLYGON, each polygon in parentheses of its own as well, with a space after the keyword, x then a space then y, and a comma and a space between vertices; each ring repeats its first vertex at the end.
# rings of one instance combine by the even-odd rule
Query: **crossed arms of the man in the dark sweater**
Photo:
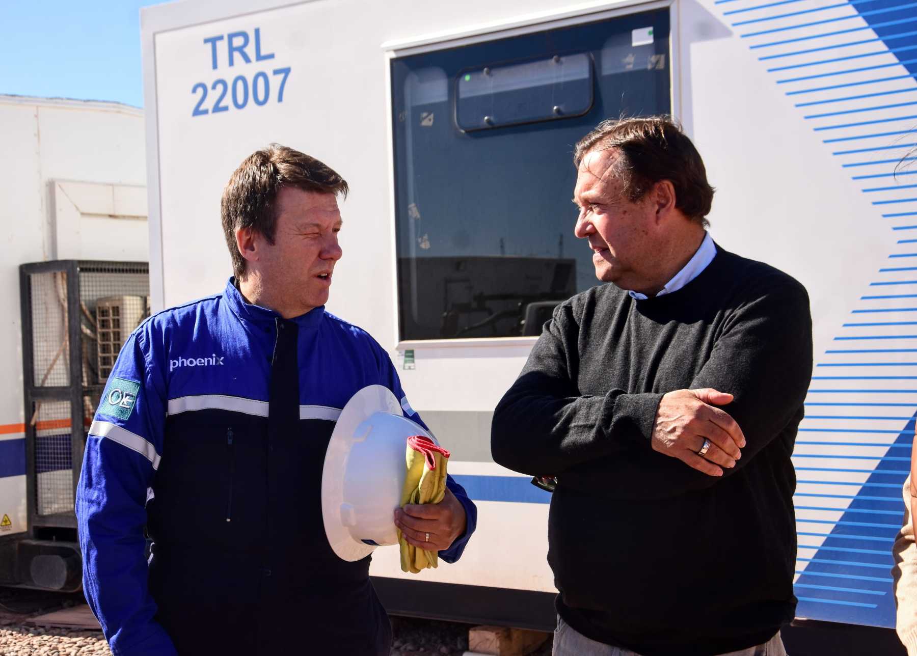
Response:
POLYGON ((570 336, 578 331, 572 307, 558 306, 494 410, 497 463, 561 481, 601 466, 610 496, 667 497, 734 475, 785 429, 795 432, 812 375, 812 319, 798 283, 736 308, 683 389, 581 395, 571 376, 581 339, 570 336), (702 458, 704 439, 711 447, 702 458))

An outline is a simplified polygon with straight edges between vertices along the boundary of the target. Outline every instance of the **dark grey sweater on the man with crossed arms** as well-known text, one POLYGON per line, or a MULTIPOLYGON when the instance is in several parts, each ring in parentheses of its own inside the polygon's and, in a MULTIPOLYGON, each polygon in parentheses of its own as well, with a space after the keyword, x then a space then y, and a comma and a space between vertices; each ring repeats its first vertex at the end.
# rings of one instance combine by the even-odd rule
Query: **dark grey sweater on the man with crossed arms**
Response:
POLYGON ((681 290, 634 301, 613 285, 558 306, 493 415, 493 459, 556 475, 547 554, 558 613, 646 656, 719 654, 793 618, 790 463, 812 377, 799 282, 718 248, 681 290), (716 388, 747 445, 706 476, 658 454, 668 391, 716 388))

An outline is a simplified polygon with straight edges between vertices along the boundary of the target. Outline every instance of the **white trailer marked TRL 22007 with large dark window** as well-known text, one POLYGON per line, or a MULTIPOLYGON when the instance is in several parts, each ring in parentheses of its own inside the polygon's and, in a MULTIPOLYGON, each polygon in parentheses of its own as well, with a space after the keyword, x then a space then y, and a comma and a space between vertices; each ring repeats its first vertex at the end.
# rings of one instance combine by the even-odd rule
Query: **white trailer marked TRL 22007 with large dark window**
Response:
POLYGON ((154 309, 230 273, 223 186, 269 142, 337 169, 329 310, 389 349, 480 508, 461 563, 371 574, 400 612, 544 627, 548 495, 490 457, 492 409, 553 302, 595 283, 572 144, 671 113, 713 237, 809 290, 794 463, 801 618, 894 625, 890 547, 917 410, 917 12, 908 0, 182 2, 141 12, 154 309), (905 162, 907 164, 907 162, 905 162), (409 590, 409 595, 398 591, 409 590))

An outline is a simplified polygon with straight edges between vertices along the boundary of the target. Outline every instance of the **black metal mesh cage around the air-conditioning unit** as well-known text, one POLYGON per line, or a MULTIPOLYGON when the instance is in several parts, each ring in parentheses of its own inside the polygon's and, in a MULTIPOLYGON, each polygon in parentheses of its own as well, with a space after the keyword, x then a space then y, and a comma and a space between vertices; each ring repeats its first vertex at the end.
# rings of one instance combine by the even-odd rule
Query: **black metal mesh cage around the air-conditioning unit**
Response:
POLYGON ((146 262, 19 267, 28 534, 75 528, 83 448, 115 358, 149 316, 146 262))

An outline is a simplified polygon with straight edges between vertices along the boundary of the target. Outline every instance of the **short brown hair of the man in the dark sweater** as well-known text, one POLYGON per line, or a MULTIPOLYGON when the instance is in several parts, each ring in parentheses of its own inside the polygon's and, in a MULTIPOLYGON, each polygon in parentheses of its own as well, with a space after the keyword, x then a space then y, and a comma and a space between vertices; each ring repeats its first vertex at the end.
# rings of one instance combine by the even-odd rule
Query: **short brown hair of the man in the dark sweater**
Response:
POLYGON ((675 187, 675 206, 692 221, 707 226, 713 187, 707 182, 701 154, 670 116, 602 121, 576 145, 573 163, 593 150, 617 148, 616 175, 630 202, 637 202, 659 180, 675 187))

